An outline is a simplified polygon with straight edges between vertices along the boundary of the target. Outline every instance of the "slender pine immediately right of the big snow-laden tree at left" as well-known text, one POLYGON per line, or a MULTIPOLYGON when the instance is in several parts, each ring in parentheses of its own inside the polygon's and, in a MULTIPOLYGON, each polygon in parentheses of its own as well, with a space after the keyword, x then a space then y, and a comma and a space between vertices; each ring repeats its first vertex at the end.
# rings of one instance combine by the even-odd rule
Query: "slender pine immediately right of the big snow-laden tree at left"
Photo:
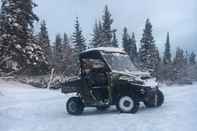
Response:
POLYGON ((39 43, 42 49, 44 50, 44 53, 47 57, 47 61, 51 63, 52 51, 51 51, 49 35, 46 27, 46 22, 44 20, 41 22, 41 27, 39 32, 39 43))

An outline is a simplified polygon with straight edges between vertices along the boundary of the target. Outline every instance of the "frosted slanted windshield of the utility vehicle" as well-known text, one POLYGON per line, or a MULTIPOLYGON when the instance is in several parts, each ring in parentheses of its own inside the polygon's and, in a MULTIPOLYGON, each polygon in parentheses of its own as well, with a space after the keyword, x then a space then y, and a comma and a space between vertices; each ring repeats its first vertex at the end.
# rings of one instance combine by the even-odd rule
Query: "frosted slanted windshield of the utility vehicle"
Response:
POLYGON ((126 54, 121 53, 103 53, 104 58, 112 71, 132 72, 139 71, 126 54))

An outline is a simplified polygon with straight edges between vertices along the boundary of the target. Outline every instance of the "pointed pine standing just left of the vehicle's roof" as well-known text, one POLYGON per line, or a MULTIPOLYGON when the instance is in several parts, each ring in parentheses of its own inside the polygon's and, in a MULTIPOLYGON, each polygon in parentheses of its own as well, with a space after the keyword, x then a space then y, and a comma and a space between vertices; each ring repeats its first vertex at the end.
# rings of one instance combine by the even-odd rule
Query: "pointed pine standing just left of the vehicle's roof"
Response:
POLYGON ((78 17, 76 18, 75 32, 72 35, 72 42, 75 44, 78 53, 86 49, 85 38, 82 34, 82 30, 80 29, 78 17))

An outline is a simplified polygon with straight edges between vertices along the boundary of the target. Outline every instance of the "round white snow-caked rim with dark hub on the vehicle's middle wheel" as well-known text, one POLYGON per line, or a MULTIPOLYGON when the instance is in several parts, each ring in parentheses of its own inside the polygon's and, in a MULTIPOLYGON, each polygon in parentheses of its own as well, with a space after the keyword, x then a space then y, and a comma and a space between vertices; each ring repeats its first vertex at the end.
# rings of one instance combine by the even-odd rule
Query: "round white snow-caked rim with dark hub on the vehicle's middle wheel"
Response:
POLYGON ((119 107, 124 112, 130 112, 134 106, 134 102, 131 97, 124 96, 120 98, 119 107))

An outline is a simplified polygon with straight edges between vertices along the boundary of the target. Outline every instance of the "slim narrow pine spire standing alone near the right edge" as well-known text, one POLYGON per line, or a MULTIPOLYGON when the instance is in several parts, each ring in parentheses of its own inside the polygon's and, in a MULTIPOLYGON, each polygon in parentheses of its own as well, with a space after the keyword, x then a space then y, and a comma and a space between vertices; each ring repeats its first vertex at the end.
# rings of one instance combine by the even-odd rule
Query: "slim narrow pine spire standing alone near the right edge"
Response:
POLYGON ((167 33, 166 44, 165 44, 165 51, 163 56, 163 63, 170 64, 171 63, 171 51, 170 51, 170 37, 169 32, 167 33))

